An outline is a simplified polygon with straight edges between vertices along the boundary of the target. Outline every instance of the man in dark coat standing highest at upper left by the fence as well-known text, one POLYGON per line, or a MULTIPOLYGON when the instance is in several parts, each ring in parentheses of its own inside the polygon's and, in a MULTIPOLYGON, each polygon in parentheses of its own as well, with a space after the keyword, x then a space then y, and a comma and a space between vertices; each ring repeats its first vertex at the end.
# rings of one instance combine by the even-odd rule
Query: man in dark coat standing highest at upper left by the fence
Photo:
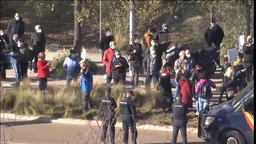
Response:
POLYGON ((22 38, 25 30, 25 24, 18 13, 15 13, 15 18, 10 20, 7 30, 9 34, 9 41, 13 40, 13 35, 15 34, 19 35, 19 38, 22 38))

